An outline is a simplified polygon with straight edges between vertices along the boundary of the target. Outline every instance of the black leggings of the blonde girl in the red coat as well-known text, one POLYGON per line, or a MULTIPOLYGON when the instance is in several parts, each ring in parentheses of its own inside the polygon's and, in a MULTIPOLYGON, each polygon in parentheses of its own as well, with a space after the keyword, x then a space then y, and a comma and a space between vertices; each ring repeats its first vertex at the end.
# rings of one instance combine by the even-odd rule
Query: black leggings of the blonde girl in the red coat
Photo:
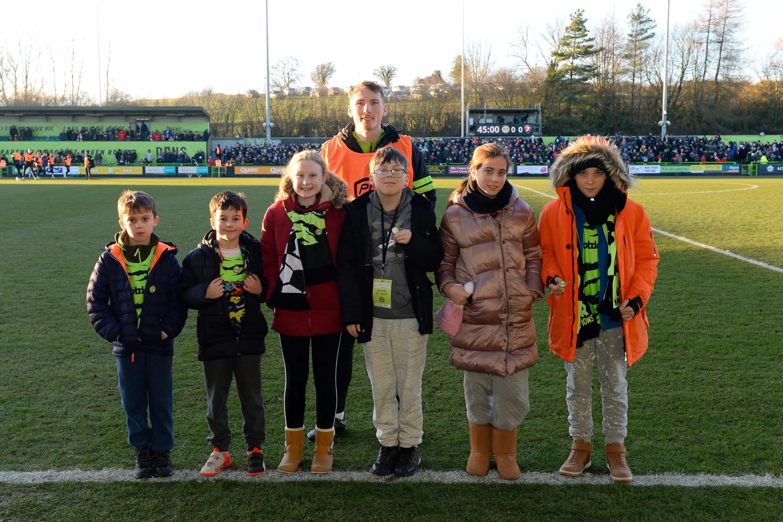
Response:
POLYGON ((313 337, 280 336, 283 362, 286 365, 286 392, 283 405, 286 427, 305 426, 305 389, 310 376, 310 342, 312 341, 312 380, 316 383, 316 427, 330 430, 337 412, 337 353, 341 336, 328 333, 313 337))

